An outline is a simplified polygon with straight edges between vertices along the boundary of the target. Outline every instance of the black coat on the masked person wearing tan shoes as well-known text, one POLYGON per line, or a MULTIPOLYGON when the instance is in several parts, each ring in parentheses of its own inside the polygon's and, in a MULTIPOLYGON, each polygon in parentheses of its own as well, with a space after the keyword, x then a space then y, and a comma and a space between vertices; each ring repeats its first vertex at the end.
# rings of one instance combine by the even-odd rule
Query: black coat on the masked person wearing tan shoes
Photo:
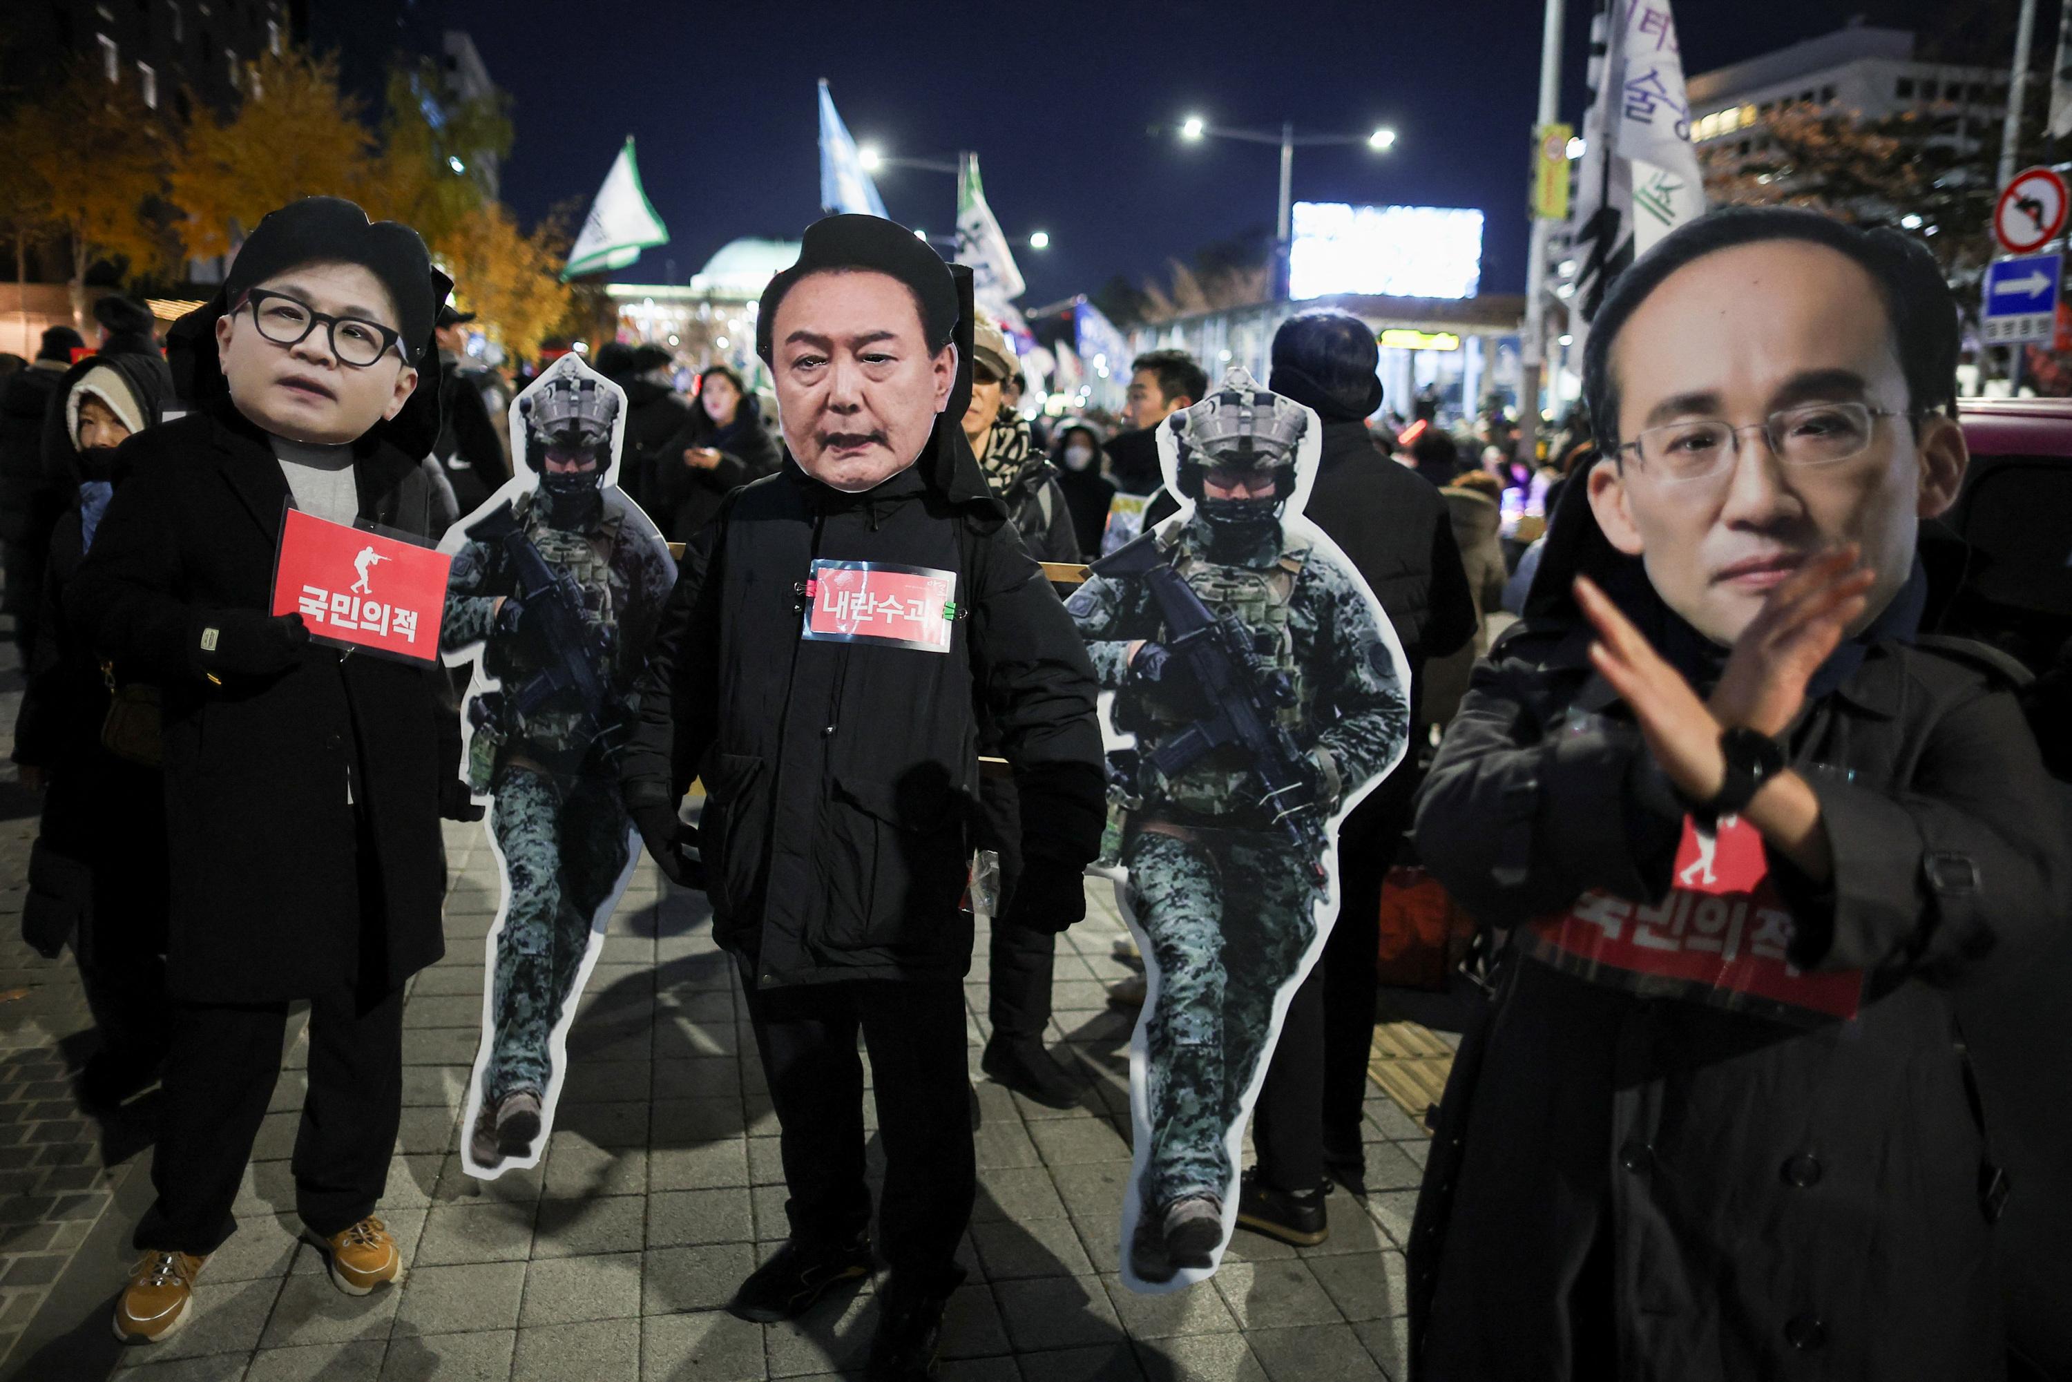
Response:
MULTIPOLYGON (((435 427, 437 375, 421 387, 435 427)), ((383 429, 356 443, 361 518, 429 537, 431 427, 408 450, 383 429)), ((209 682, 197 663, 209 611, 269 605, 280 462, 228 400, 131 437, 120 460, 131 479, 66 607, 95 653, 162 688, 170 992, 271 1003, 396 988, 443 953, 439 800, 458 783, 460 725, 441 671, 311 644, 282 675, 209 682)))

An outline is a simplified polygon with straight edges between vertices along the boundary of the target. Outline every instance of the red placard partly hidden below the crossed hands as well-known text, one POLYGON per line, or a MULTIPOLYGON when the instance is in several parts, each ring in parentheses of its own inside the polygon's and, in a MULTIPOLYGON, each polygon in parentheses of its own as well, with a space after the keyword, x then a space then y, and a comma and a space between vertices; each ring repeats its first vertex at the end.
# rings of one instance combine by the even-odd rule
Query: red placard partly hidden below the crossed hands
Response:
POLYGON ((1786 959, 1792 914, 1753 825, 1726 816, 1703 833, 1685 816, 1670 885, 1656 905, 1583 893, 1566 914, 1533 922, 1527 949, 1564 974, 1647 997, 1805 1024, 1857 1015, 1859 970, 1809 974, 1786 959))

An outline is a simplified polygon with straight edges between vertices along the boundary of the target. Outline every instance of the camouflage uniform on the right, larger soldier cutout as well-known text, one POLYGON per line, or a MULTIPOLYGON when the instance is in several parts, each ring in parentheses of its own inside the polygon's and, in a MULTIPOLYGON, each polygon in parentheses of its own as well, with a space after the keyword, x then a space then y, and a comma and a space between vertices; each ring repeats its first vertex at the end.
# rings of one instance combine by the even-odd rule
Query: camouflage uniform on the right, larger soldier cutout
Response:
MULTIPOLYGON (((1384 773, 1409 738, 1409 694, 1392 642, 1376 624, 1357 574, 1278 524, 1249 551, 1214 547, 1216 526, 1175 518, 1158 553, 1212 613, 1235 613, 1256 653, 1289 675, 1280 723, 1314 765, 1322 812, 1384 773)), ((1140 754, 1185 729, 1200 707, 1129 669, 1131 644, 1164 628, 1142 578, 1094 568, 1071 597, 1094 669, 1117 692, 1115 721, 1140 754)), ((1316 858, 1295 850, 1262 808, 1264 785, 1239 748, 1218 748, 1171 779, 1133 783, 1123 833, 1133 910, 1158 961, 1146 1024, 1152 1140, 1146 1212, 1187 1196, 1227 1198, 1235 1167, 1225 1144, 1254 1075, 1266 1063, 1274 997, 1316 939, 1316 858)))

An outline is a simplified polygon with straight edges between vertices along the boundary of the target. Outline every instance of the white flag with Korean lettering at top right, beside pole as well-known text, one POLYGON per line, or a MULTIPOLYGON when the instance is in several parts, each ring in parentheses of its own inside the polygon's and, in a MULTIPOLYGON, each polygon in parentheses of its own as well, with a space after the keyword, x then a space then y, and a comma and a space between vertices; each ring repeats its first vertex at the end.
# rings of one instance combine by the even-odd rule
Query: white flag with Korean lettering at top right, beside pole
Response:
POLYGON ((1668 0, 1608 0, 1589 37, 1591 102, 1571 222, 1583 321, 1637 253, 1705 211, 1668 0))

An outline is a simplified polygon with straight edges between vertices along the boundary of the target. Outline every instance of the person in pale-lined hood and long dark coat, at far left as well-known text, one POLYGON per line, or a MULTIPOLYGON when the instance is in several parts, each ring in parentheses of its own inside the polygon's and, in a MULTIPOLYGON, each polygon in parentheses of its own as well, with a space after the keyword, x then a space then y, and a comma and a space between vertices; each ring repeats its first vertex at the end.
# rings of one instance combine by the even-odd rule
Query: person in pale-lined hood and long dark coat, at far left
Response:
POLYGON ((44 955, 73 943, 102 1036, 81 1096, 106 1109, 149 1084, 166 1055, 166 785, 149 762, 149 725, 141 742, 106 729, 112 684, 135 678, 102 667, 64 617, 64 597, 126 477, 116 448, 157 425, 172 387, 147 356, 97 354, 64 375, 58 398, 44 468, 77 477, 79 499, 52 530, 41 636, 15 717, 15 762, 44 791, 23 934, 44 955))

